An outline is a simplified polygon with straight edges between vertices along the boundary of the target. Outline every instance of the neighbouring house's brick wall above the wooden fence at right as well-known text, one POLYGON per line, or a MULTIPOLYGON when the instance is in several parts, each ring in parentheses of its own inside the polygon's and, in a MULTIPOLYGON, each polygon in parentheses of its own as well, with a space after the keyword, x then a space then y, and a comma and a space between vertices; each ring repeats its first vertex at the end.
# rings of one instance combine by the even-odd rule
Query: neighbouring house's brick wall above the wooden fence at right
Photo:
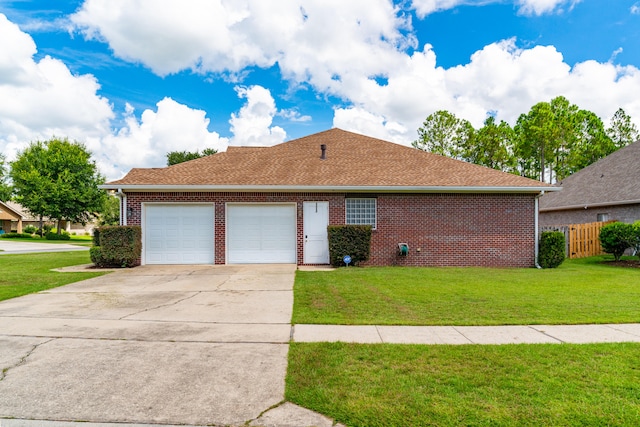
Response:
POLYGON ((640 204, 540 212, 540 226, 588 224, 598 221, 598 214, 608 214, 608 220, 633 223, 640 220, 640 204))

